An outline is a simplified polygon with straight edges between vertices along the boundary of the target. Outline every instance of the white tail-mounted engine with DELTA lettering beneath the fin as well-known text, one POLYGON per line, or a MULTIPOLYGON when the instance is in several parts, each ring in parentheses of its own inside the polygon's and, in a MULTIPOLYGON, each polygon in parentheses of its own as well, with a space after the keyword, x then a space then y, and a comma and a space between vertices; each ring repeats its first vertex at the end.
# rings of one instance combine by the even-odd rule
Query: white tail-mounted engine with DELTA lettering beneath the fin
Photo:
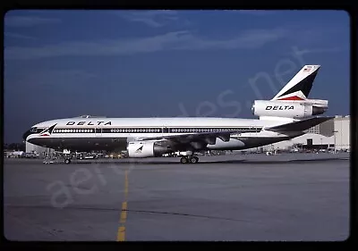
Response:
POLYGON ((303 119, 325 113, 327 109, 327 100, 306 99, 299 102, 255 100, 251 112, 255 116, 303 119))

